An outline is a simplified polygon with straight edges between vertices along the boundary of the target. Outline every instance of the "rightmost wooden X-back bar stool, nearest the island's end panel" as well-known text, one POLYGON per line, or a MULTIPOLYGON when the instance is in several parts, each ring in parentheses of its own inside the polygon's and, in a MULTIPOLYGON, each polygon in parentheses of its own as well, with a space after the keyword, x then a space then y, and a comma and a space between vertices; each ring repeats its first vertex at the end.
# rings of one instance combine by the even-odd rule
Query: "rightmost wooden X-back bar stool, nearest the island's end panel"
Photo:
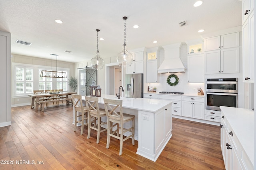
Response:
POLYGON ((134 121, 135 116, 123 113, 122 100, 112 100, 104 98, 104 107, 108 122, 107 149, 110 145, 110 137, 120 140, 119 155, 122 155, 123 142, 132 137, 132 145, 134 145, 134 121), (132 121, 132 127, 124 128, 124 123, 132 121), (114 124, 114 125, 113 125, 114 124), (116 127, 116 130, 113 130, 116 127), (124 138, 124 133, 127 132, 127 137, 124 138))

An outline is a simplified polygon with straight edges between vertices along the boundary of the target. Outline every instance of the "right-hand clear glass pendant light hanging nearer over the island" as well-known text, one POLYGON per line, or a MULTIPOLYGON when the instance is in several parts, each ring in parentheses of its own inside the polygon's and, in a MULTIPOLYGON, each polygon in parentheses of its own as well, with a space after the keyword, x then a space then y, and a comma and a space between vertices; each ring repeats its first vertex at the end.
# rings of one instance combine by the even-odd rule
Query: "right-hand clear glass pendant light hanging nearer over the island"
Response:
POLYGON ((123 17, 124 20, 124 45, 123 45, 123 51, 118 54, 116 57, 117 63, 120 67, 126 67, 126 66, 131 66, 132 65, 132 54, 127 51, 126 48, 126 23, 125 21, 127 20, 127 17, 123 17))

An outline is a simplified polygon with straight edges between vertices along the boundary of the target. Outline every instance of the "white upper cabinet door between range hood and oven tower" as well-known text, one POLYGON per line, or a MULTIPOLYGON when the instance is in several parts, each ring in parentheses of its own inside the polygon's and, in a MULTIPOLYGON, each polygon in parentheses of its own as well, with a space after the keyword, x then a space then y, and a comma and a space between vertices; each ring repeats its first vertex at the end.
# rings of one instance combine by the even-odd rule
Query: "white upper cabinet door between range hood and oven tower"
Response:
POLYGON ((188 82, 204 82, 204 55, 188 55, 188 82))

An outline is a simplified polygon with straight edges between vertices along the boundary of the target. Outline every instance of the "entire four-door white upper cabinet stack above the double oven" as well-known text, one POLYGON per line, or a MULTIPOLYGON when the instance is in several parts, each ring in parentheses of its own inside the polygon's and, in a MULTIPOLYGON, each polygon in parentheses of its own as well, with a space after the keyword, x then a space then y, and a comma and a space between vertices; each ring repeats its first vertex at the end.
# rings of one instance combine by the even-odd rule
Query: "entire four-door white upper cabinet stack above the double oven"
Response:
POLYGON ((239 73, 239 32, 204 39, 204 73, 239 73))

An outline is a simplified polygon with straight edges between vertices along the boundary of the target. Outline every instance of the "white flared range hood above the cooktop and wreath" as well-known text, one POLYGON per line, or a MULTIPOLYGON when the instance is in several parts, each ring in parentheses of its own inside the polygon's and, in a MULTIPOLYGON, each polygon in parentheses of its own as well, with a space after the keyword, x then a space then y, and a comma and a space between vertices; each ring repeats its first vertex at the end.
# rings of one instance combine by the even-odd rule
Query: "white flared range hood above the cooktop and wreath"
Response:
POLYGON ((182 43, 163 46, 164 61, 160 64, 157 72, 186 72, 186 68, 180 59, 180 46, 182 43))

